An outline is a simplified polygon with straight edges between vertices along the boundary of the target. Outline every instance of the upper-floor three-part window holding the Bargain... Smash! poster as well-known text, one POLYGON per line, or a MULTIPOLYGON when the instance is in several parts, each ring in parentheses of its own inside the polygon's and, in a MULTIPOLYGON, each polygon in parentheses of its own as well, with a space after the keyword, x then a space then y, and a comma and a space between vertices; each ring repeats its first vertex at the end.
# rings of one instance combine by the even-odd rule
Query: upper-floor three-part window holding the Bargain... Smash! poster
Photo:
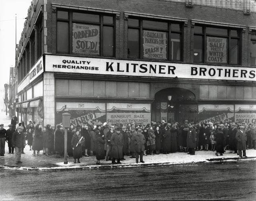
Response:
POLYGON ((181 60, 181 25, 128 19, 128 57, 181 60))

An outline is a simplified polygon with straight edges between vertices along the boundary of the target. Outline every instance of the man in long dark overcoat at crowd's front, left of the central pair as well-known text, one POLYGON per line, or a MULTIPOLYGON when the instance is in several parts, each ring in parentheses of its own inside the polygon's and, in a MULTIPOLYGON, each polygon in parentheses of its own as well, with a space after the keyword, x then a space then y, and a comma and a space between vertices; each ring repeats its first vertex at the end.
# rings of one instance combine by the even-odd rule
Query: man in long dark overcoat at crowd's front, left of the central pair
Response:
POLYGON ((123 157, 123 139, 120 135, 119 127, 116 127, 115 132, 110 138, 110 142, 112 145, 112 149, 110 152, 110 156, 112 157, 112 164, 121 164, 120 159, 123 157))

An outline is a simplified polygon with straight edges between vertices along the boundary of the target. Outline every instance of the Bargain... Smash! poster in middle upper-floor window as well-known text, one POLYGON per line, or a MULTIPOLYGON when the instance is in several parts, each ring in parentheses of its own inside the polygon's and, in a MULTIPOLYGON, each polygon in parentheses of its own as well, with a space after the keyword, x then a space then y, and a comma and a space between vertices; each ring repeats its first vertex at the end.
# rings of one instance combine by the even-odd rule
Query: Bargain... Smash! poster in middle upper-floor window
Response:
POLYGON ((143 30, 144 58, 167 59, 167 33, 143 30))

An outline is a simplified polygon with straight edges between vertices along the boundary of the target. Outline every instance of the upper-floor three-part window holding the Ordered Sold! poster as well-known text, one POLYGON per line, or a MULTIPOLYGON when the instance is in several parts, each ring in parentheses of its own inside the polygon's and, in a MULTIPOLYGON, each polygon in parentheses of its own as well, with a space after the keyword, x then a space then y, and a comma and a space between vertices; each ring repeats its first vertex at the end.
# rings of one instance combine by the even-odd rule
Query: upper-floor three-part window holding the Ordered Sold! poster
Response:
POLYGON ((113 57, 113 16, 58 11, 57 52, 113 57))

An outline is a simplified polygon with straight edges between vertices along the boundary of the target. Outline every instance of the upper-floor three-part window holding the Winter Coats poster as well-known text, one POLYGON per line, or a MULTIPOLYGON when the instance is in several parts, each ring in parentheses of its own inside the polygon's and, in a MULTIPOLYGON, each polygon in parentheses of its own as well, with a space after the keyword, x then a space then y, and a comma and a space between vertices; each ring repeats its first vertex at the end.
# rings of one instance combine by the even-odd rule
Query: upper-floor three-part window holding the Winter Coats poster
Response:
POLYGON ((240 63, 240 30, 194 27, 195 63, 240 63))

